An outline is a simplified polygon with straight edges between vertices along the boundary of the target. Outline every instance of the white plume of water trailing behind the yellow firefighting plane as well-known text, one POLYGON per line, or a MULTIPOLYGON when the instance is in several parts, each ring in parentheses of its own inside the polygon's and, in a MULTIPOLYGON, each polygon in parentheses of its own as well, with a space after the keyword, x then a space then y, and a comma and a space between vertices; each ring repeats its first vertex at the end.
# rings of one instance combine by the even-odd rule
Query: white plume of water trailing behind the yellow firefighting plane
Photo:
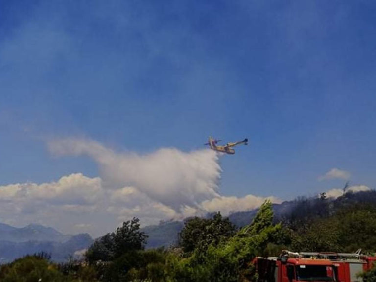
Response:
POLYGON ((49 149, 58 155, 88 155, 99 165, 107 186, 134 187, 177 212, 219 196, 221 169, 217 154, 211 150, 185 153, 164 148, 138 155, 115 153, 98 142, 82 139, 51 141, 49 149))

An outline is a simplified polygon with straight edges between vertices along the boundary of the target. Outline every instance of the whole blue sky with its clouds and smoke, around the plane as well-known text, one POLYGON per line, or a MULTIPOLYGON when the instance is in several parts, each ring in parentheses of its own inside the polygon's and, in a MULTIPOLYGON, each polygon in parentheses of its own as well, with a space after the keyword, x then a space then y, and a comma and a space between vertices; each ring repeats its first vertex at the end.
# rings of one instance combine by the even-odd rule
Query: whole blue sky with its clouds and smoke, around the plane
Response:
POLYGON ((376 3, 0 2, 0 222, 93 236, 376 186, 376 3), (249 139, 235 155, 208 136, 249 139))

